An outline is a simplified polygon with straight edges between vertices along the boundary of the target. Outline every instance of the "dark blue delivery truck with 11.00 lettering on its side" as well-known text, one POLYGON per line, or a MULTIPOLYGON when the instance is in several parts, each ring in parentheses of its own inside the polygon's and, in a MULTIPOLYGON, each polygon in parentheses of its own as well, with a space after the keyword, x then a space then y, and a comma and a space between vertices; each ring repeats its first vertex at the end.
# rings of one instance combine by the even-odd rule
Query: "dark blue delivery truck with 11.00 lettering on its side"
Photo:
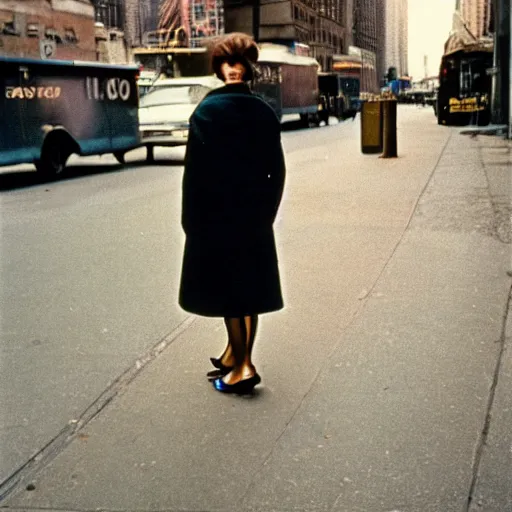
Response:
POLYGON ((0 56, 0 166, 46 177, 73 153, 123 155, 139 144, 136 66, 0 56))

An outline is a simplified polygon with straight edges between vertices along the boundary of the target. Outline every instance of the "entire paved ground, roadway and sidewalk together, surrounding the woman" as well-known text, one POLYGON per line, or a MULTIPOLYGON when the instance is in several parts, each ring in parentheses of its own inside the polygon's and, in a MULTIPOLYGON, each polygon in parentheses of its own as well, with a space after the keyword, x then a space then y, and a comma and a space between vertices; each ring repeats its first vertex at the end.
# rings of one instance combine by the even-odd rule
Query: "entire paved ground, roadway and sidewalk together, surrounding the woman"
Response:
POLYGON ((31 511, 512 512, 510 143, 400 106, 284 125, 285 309, 251 398, 177 305, 183 149, 0 169, 0 505, 31 511))

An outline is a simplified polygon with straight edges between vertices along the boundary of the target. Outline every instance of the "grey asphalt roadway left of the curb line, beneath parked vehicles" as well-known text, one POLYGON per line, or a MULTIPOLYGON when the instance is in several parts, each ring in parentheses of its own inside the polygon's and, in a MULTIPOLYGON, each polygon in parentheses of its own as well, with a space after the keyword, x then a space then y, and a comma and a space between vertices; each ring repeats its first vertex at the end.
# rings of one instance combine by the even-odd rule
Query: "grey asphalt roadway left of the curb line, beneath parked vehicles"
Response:
MULTIPOLYGON (((359 125, 283 125, 287 157, 359 125)), ((62 179, 2 168, 0 482, 65 434, 187 314, 177 305, 183 148, 72 157, 62 179)))

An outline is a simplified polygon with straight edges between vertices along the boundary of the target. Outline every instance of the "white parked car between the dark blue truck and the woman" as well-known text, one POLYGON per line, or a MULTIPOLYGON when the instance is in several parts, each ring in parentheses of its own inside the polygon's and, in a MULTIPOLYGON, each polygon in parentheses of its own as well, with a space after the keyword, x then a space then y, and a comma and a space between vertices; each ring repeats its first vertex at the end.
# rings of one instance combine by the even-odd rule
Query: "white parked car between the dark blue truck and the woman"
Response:
POLYGON ((188 140, 189 118, 198 103, 224 83, 215 76, 157 80, 140 98, 141 145, 153 159, 155 146, 184 146, 188 140))

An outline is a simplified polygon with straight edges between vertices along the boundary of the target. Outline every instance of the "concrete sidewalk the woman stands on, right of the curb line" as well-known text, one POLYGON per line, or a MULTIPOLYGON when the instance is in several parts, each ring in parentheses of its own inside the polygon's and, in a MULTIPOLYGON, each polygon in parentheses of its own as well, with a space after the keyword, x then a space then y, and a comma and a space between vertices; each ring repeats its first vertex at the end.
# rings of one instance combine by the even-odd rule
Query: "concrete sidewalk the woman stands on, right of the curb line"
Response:
POLYGON ((222 322, 187 317, 3 507, 512 511, 510 143, 404 106, 380 159, 348 123, 283 136, 255 395, 213 390, 222 322))

